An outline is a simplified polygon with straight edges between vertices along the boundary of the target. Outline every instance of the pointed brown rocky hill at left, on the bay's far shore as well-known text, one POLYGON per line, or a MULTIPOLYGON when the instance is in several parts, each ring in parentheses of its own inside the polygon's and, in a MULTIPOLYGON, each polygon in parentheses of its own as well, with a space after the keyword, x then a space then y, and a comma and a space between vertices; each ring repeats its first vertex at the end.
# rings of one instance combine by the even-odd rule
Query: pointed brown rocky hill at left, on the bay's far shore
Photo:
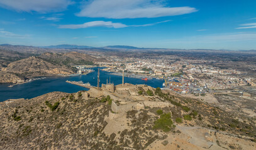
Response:
POLYGON ((60 64, 49 63, 36 57, 14 61, 13 63, 8 64, 6 68, 3 68, 3 71, 18 73, 28 78, 33 76, 75 73, 72 68, 60 64))

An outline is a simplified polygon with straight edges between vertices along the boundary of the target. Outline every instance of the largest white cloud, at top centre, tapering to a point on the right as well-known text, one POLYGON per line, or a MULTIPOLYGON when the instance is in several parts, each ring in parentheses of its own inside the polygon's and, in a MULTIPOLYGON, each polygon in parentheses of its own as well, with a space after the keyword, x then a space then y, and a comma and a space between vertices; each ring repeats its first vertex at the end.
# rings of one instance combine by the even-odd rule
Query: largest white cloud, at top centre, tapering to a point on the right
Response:
POLYGON ((105 17, 113 19, 177 16, 196 12, 188 6, 170 8, 163 0, 92 0, 84 2, 81 17, 105 17))

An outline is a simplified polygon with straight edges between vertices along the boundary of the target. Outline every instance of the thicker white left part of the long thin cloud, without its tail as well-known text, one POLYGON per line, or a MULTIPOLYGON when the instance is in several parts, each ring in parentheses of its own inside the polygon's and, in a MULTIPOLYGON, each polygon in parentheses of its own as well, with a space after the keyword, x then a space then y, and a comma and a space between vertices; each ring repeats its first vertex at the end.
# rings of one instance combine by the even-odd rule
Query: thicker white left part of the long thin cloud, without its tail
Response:
POLYGON ((121 28, 121 27, 127 27, 127 26, 122 23, 113 23, 112 21, 91 21, 91 22, 86 22, 84 24, 67 24, 67 25, 60 25, 58 27, 62 29, 81 29, 81 28, 87 28, 87 27, 121 28))

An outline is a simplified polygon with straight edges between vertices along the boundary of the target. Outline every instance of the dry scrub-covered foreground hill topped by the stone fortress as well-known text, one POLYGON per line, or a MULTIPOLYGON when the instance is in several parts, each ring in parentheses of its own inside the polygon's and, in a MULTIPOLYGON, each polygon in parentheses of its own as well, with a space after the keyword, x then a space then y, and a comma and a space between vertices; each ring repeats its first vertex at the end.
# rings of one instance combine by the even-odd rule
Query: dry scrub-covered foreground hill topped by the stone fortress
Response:
POLYGON ((256 148, 255 119, 136 87, 140 95, 92 88, 0 103, 0 149, 256 148))

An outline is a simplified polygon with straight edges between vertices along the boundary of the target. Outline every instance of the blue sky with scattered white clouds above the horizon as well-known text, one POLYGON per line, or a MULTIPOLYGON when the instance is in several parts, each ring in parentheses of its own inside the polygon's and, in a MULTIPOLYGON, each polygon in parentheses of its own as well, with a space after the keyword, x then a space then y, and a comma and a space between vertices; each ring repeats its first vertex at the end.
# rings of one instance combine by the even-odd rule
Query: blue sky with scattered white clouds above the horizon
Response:
POLYGON ((256 49, 255 0, 0 0, 0 44, 256 49))

